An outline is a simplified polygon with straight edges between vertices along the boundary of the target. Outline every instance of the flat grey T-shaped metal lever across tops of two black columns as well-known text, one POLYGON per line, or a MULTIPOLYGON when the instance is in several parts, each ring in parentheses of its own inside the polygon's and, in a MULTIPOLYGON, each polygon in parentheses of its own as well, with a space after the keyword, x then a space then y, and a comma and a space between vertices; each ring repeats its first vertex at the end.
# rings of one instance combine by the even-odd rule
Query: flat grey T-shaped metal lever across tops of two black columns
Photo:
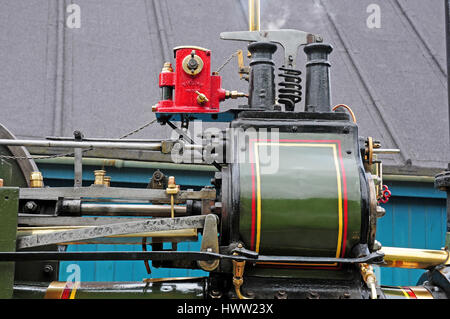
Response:
POLYGON ((322 37, 319 35, 294 29, 222 32, 220 38, 223 40, 248 42, 268 41, 278 43, 284 49, 285 66, 290 68, 295 68, 297 53, 300 46, 323 41, 322 37))

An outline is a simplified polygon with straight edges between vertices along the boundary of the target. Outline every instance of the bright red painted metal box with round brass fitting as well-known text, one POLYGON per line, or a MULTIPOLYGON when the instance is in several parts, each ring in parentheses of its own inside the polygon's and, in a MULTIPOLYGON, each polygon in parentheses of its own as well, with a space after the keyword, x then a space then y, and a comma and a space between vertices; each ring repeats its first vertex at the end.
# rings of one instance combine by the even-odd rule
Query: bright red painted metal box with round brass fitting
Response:
POLYGON ((153 106, 158 113, 218 113, 219 103, 226 98, 222 78, 211 74, 211 51, 176 47, 175 71, 165 63, 159 75, 162 101, 153 106), (175 93, 175 94, 174 94, 175 93))

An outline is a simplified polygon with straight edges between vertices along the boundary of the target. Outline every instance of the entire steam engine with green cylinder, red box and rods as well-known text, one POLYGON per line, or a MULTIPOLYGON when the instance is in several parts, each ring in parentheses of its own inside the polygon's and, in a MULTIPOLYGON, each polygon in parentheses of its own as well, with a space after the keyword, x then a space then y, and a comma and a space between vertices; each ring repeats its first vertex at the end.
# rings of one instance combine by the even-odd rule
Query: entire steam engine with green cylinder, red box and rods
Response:
MULTIPOLYGON (((328 56, 333 48, 320 36, 298 30, 225 32, 221 38, 250 43, 248 67, 238 51, 248 93, 221 88, 218 72, 211 72, 210 50, 175 48, 175 69, 164 64, 162 98, 153 111, 178 139, 0 140, 4 155, 10 155, 2 161, 9 163, 20 161, 7 147, 75 150, 74 187, 43 187, 32 160, 33 173, 28 169, 21 185, 0 176, 5 180, 0 210, 7 221, 1 226, 3 297, 447 298, 447 250, 382 247, 375 239, 377 219, 385 214, 382 204, 390 196, 377 155, 398 150, 359 137, 352 110, 332 106, 328 56), (280 47, 284 64, 276 68, 273 56, 280 47), (301 111, 299 48, 306 55, 301 111), (247 98, 248 103, 221 111, 220 102, 227 98, 247 98), (196 120, 222 123, 222 128, 205 130, 199 142, 188 134, 196 120), (92 148, 159 151, 178 163, 199 156, 217 171, 211 185, 200 190, 177 185, 164 169, 153 174, 147 189, 111 187, 103 170, 96 171, 93 185, 83 187, 82 154, 92 148), (197 241, 199 234, 200 251, 177 248, 177 243, 197 241), (167 242, 170 250, 163 249, 167 242), (143 249, 64 249, 86 243, 141 244, 143 249), (47 283, 25 275, 42 261, 57 269, 62 260, 142 260, 149 274, 151 261, 152 267, 202 269, 208 276, 125 285, 59 282, 57 271, 47 283), (383 287, 373 265, 428 272, 417 287, 383 287)), ((3 167, 1 173, 6 171, 3 167)))

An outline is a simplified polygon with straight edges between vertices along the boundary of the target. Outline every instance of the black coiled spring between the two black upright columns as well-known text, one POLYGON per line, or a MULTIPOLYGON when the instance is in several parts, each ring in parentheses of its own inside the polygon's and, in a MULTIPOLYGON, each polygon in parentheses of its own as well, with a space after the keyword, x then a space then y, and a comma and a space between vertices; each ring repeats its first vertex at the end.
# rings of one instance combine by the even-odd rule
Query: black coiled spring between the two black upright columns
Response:
POLYGON ((301 74, 302 72, 295 69, 281 67, 278 70, 283 73, 278 74, 283 81, 278 83, 278 103, 284 104, 286 111, 294 111, 295 104, 302 100, 301 74))

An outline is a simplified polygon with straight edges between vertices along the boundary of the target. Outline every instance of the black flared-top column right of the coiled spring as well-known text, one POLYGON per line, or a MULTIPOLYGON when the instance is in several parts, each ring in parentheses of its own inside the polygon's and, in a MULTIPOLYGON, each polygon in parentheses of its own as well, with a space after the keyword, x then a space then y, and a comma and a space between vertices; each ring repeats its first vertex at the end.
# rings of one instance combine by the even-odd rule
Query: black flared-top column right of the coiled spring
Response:
POLYGON ((306 112, 331 112, 330 67, 328 55, 333 47, 324 43, 305 46, 306 63, 306 112))

